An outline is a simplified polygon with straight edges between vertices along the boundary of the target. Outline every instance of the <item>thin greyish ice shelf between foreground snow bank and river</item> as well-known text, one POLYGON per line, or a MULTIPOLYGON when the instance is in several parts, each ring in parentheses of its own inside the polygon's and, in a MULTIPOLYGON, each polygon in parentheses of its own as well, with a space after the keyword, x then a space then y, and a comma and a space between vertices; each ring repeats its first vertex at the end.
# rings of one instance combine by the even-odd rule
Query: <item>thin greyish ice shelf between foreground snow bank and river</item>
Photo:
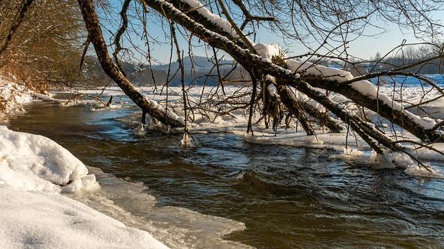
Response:
POLYGON ((124 181, 96 167, 89 167, 89 172, 96 175, 101 190, 67 196, 131 228, 148 231, 171 248, 250 248, 222 239, 225 234, 244 230, 244 223, 186 208, 157 207, 143 183, 124 181))

